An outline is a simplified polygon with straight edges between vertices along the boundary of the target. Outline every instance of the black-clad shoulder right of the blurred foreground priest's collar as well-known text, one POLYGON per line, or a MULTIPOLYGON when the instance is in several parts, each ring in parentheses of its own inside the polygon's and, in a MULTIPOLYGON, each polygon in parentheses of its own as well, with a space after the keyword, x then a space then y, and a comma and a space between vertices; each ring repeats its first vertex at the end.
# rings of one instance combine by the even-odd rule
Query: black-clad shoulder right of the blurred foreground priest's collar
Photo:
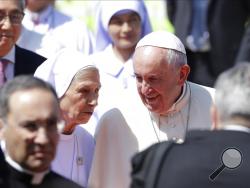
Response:
POLYGON ((55 187, 82 188, 80 185, 59 175, 54 171, 50 171, 50 173, 46 175, 44 180, 44 185, 45 185, 44 187, 46 188, 55 188, 55 187))

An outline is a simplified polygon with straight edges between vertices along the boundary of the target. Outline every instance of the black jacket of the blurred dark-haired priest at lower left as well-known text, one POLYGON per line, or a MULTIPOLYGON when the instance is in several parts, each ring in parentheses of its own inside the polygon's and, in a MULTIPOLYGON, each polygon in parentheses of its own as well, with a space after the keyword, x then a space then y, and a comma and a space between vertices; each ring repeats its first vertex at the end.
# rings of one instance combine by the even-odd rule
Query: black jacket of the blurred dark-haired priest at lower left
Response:
POLYGON ((59 174, 50 171, 40 185, 31 185, 31 175, 12 168, 4 159, 0 149, 0 187, 1 188, 81 188, 81 186, 59 174))

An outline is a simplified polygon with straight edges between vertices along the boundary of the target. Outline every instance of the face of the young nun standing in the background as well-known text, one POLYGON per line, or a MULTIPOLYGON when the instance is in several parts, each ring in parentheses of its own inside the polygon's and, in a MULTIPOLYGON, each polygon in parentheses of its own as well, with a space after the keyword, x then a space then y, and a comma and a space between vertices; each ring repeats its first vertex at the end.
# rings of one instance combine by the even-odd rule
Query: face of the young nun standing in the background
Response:
POLYGON ((133 11, 112 16, 108 33, 118 49, 132 49, 141 38, 141 19, 133 11))

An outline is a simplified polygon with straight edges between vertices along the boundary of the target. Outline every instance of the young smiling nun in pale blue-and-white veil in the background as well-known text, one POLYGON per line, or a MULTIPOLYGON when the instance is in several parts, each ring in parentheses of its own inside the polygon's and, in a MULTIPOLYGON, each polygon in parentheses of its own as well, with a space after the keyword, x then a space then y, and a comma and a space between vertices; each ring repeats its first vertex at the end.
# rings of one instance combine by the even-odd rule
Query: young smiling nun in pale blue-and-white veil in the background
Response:
POLYGON ((101 1, 98 6, 96 48, 91 58, 103 76, 95 124, 116 101, 122 100, 123 90, 135 88, 131 57, 137 42, 152 31, 142 0, 101 1))

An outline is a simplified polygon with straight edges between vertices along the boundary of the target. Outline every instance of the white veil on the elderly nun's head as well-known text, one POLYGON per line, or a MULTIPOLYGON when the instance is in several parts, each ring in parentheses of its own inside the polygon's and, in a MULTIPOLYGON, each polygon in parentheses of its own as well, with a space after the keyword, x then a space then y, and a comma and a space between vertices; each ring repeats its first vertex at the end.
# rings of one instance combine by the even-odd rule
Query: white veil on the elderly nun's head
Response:
POLYGON ((42 63, 36 69, 34 76, 49 82, 56 90, 58 97, 61 98, 76 73, 89 67, 95 66, 87 56, 65 48, 42 63))

